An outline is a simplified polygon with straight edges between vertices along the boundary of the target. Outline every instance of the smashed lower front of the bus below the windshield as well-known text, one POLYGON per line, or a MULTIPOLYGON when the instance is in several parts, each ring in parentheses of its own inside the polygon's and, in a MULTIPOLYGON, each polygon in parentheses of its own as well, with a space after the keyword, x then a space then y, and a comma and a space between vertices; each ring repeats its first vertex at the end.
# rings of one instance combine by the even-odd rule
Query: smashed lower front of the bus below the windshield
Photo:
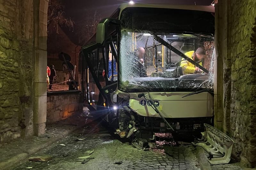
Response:
MULTIPOLYGON (((191 105, 188 104, 187 107, 191 107, 190 109, 196 110, 196 112, 187 114, 184 113, 184 109, 179 107, 177 103, 184 102, 184 100, 179 100, 177 96, 180 96, 181 99, 181 96, 189 94, 189 92, 164 93, 149 92, 145 95, 144 93, 127 94, 120 92, 120 97, 117 98, 119 102, 112 107, 112 110, 109 110, 112 114, 114 113, 114 115, 116 115, 116 118, 113 119, 111 113, 108 115, 108 120, 117 119, 116 133, 122 138, 128 138, 134 135, 137 138, 141 138, 141 135, 143 136, 145 133, 147 135, 143 140, 147 140, 148 142, 152 142, 155 132, 171 132, 176 139, 193 140, 194 137, 200 138, 200 132, 204 131, 204 123, 213 125, 213 116, 204 113, 204 110, 209 113, 211 113, 212 110, 205 108, 197 109, 197 106, 193 106, 194 103, 192 103, 191 105), (151 96, 150 100, 147 100, 146 96, 148 95, 151 96), (173 95, 174 98, 169 95, 173 95), (152 98, 158 100, 153 100, 152 98), (145 104, 143 104, 143 102, 145 102, 145 104), (170 104, 171 102, 174 103, 174 105, 170 104), (177 105, 177 107, 175 107, 175 105, 177 105), (176 112, 176 110, 180 110, 180 112, 176 112), (175 115, 175 112, 180 115, 175 115), (198 117, 198 115, 205 116, 198 117), (148 134, 151 134, 151 136, 148 134)), ((205 104, 207 102, 209 106, 212 105, 212 95, 208 92, 198 94, 197 97, 200 98, 198 101, 202 105, 207 106, 207 104, 205 104)), ((186 101, 190 100, 196 102, 192 97, 186 99, 186 101)))

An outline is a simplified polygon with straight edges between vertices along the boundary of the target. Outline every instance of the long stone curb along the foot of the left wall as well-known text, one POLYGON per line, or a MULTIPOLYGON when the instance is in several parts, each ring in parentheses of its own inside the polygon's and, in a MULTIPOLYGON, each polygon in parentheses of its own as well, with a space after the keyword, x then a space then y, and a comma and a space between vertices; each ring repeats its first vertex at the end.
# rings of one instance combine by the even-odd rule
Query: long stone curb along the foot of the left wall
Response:
POLYGON ((78 124, 75 128, 61 132, 57 137, 49 138, 49 140, 47 140, 43 144, 32 147, 32 148, 28 149, 26 152, 23 151, 23 153, 13 155, 11 158, 4 160, 4 162, 0 162, 0 169, 3 169, 3 170, 8 169, 11 166, 13 166, 14 164, 20 163, 22 160, 26 159, 29 155, 53 144, 54 142, 56 142, 64 137, 67 137, 70 133, 74 132, 75 130, 77 130, 79 128, 84 127, 85 125, 86 125, 86 123, 78 124))

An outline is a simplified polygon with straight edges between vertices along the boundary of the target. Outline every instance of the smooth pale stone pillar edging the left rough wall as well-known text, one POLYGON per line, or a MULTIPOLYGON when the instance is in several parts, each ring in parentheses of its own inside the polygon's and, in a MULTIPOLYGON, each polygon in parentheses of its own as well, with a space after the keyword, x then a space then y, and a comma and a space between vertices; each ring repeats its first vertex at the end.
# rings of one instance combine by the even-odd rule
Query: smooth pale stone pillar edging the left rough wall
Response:
POLYGON ((45 133, 46 66, 47 66, 47 0, 34 0, 34 134, 45 133))

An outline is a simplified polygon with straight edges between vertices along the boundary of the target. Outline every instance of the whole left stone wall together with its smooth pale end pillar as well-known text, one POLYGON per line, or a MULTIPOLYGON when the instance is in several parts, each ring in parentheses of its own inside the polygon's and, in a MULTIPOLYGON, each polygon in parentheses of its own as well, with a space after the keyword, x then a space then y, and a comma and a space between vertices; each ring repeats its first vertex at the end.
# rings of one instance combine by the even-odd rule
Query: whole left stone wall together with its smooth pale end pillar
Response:
POLYGON ((48 1, 0 1, 0 146, 44 133, 48 1))

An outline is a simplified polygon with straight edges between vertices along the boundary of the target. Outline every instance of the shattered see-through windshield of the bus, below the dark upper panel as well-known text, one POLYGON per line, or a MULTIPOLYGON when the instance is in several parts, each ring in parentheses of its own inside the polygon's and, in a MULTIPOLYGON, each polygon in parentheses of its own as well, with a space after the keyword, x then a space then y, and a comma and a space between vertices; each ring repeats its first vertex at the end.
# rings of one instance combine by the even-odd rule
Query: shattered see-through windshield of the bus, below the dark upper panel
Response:
POLYGON ((119 64, 119 88, 125 92, 212 89, 214 39, 122 29, 119 64))

